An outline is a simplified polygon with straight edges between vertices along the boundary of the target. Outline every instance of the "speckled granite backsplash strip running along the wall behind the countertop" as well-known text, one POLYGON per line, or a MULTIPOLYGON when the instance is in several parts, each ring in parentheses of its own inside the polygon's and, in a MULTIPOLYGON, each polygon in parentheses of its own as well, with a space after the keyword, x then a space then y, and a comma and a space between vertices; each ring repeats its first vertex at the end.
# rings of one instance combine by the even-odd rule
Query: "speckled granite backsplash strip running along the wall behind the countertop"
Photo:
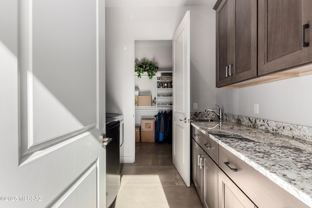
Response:
MULTIPOLYGON (((193 119, 207 119, 215 118, 215 113, 211 112, 191 112, 193 119)), ((217 119, 217 118, 216 118, 217 119)), ((279 133, 285 136, 291 136, 302 140, 312 142, 312 127, 299 126, 295 124, 288 124, 276 121, 269 121, 261 118, 247 117, 243 115, 233 115, 229 113, 223 114, 223 120, 231 121, 246 126, 254 127, 264 131, 279 133)))

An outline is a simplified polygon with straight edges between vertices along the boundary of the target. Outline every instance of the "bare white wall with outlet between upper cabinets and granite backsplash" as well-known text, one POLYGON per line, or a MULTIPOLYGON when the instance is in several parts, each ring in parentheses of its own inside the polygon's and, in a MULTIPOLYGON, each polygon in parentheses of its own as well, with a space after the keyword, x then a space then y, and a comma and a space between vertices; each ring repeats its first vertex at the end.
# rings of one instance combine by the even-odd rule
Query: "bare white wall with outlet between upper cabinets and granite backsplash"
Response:
POLYGON ((312 75, 240 89, 218 89, 225 113, 312 127, 312 75), (259 104, 259 114, 254 113, 259 104))

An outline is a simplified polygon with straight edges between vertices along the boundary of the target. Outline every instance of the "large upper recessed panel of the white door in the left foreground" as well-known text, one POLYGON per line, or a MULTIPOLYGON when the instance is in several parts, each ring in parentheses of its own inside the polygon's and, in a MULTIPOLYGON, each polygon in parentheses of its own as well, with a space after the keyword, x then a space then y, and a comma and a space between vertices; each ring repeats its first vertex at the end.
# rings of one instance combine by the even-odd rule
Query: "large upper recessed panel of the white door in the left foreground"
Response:
POLYGON ((28 100, 33 104, 29 116, 33 117, 34 144, 97 123, 96 1, 80 0, 75 7, 70 2, 75 3, 37 0, 31 5, 27 33, 32 44, 28 47, 32 92, 28 100))

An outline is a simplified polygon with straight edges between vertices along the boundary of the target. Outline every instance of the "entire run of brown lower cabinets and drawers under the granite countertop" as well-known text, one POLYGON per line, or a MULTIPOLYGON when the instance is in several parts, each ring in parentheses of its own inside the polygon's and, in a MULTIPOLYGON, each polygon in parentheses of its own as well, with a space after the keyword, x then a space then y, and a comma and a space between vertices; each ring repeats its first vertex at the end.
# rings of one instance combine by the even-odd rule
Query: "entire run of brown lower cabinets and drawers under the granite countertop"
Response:
POLYGON ((193 127, 191 137, 193 181, 205 208, 309 208, 208 135, 193 127))

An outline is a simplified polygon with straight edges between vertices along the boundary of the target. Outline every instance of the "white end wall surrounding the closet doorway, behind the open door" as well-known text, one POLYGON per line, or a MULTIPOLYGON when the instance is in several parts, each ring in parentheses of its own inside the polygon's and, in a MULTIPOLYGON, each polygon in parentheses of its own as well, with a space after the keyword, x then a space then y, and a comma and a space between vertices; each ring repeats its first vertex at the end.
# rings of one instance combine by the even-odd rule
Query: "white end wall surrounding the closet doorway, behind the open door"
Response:
POLYGON ((215 104, 215 11, 211 6, 106 8, 106 111, 124 115, 125 162, 134 158, 134 40, 172 38, 191 11, 191 103, 215 104), (194 83, 194 84, 193 84, 194 83))

